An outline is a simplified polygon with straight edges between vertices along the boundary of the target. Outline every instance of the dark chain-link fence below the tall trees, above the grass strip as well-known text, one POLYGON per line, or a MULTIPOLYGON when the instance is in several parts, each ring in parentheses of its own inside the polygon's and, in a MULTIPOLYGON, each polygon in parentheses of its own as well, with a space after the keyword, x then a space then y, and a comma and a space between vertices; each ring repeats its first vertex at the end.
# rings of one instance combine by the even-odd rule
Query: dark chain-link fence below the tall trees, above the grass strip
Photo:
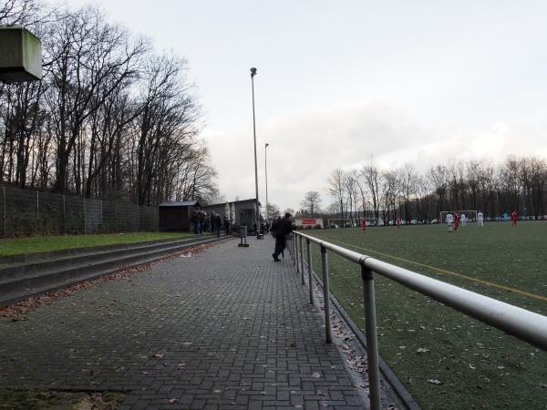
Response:
POLYGON ((158 207, 0 187, 6 237, 76 233, 158 231, 158 207))

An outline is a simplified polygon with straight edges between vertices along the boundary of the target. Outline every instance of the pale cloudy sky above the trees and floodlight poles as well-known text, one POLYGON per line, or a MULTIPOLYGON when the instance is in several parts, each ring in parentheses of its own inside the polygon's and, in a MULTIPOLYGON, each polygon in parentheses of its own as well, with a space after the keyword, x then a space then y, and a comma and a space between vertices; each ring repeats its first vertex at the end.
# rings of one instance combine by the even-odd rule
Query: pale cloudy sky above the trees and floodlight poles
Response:
POLYGON ((298 210, 336 168, 547 159, 547 2, 67 0, 185 56, 226 200, 298 210))

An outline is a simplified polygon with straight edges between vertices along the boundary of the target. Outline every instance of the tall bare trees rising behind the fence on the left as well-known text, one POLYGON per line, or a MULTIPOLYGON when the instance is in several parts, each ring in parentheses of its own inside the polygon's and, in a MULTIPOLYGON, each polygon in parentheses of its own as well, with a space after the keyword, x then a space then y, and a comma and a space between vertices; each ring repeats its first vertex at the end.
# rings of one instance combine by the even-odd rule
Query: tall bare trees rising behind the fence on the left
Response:
POLYGON ((139 205, 216 197, 184 58, 91 6, 10 0, 6 25, 41 38, 44 78, 0 84, 0 182, 139 205))

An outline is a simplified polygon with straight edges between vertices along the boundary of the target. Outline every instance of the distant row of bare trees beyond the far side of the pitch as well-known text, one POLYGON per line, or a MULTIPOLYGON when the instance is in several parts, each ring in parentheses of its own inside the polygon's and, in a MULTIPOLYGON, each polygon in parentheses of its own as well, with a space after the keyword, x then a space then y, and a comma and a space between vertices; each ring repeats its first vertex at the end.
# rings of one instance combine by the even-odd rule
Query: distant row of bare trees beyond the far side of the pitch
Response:
POLYGON ((441 210, 482 210, 488 218, 517 210, 520 216, 539 218, 547 214, 547 162, 515 157, 497 166, 459 161, 423 175, 409 164, 381 171, 371 162, 362 169, 335 169, 328 191, 335 201, 326 213, 336 218, 435 220, 441 210))

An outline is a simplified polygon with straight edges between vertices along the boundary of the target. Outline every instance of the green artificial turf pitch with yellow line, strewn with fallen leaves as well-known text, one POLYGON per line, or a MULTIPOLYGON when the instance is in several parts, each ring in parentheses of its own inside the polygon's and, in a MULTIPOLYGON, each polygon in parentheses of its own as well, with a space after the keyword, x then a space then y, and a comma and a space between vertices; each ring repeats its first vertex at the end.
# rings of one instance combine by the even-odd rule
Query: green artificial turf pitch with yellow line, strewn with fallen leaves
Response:
MULTIPOLYGON (((305 233, 547 315, 547 221, 305 233)), ((331 292, 364 329, 359 268, 328 257, 331 292)), ((547 408, 546 352, 380 275, 375 282, 380 355, 422 408, 547 408)))

